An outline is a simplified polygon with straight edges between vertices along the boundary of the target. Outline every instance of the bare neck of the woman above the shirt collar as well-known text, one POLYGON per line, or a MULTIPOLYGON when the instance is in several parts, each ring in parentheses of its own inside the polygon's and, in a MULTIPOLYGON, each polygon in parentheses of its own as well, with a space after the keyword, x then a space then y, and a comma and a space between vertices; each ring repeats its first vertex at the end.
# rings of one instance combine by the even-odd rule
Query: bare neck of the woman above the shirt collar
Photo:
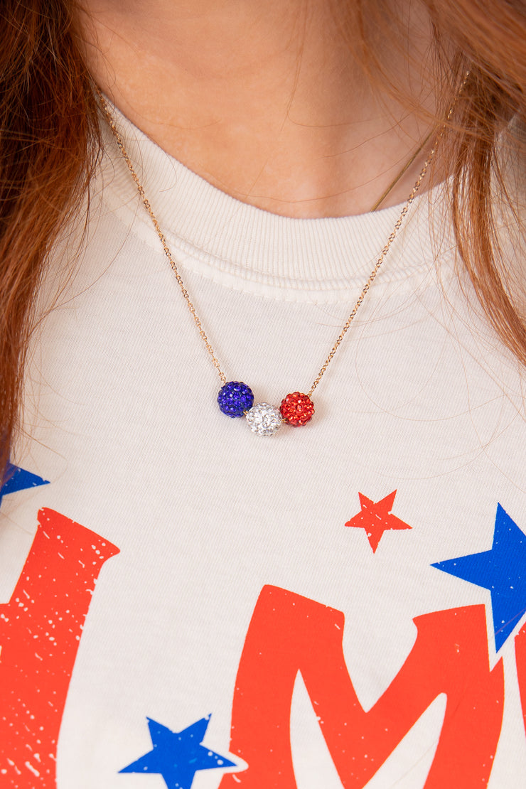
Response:
MULTIPOLYGON (((326 0, 84 0, 84 8, 88 65, 119 109, 218 189, 267 211, 368 211, 427 136, 426 122, 371 88, 326 0)), ((431 28, 415 15, 410 25, 417 61, 431 28)), ((425 92, 396 47, 391 67, 425 92)), ((416 159, 382 206, 405 199, 420 166, 416 159)))

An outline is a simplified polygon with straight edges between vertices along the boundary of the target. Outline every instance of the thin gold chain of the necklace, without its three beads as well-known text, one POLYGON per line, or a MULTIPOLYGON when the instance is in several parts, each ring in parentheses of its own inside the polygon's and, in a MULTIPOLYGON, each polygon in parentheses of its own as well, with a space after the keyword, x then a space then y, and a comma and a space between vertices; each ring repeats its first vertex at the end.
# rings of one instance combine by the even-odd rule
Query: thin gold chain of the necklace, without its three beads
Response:
MULTIPOLYGON (((320 380, 322 380, 322 376, 323 376, 323 373, 326 371, 326 368, 330 365, 330 362, 333 360, 334 354, 336 353, 336 351, 338 350, 338 347, 340 346, 341 342, 343 341, 343 338, 345 337, 347 331, 349 330, 349 327, 350 327, 351 323, 353 323, 353 320, 354 320, 354 318, 356 316, 356 312, 358 312, 358 310, 360 309, 360 306, 362 305, 362 303, 364 301, 364 298, 365 298, 365 296, 367 294, 367 291, 370 289, 372 283, 374 282, 375 277, 376 277, 376 275, 379 272, 379 268, 382 266, 382 263, 385 260, 387 252, 389 252, 390 247, 393 244, 394 239, 397 237, 398 230, 400 230, 400 228, 402 226, 402 223, 404 222, 404 218, 405 218, 405 215, 407 214, 407 212, 409 210, 409 206, 412 204, 413 200, 415 200, 416 193, 420 189, 420 185, 422 184, 423 178, 425 178, 425 175, 427 173, 427 169, 430 166, 431 161, 433 160, 433 157, 435 156, 436 150, 438 148, 438 143, 440 142, 440 140, 442 139, 442 136, 444 136, 444 133, 446 132, 446 126, 447 126, 448 122, 450 121, 451 116, 453 115, 453 111, 454 111, 454 109, 455 109, 455 107, 457 105, 458 98, 461 95, 462 90, 464 89, 464 85, 466 84, 466 82, 468 80, 468 77, 469 77, 469 70, 464 73, 464 79, 462 80, 461 87, 459 88, 459 90, 457 92, 457 96, 456 96, 453 104, 451 105, 448 114, 446 115, 446 118, 445 118, 445 120, 444 120, 444 122, 442 124, 441 129, 439 130, 439 132, 437 133, 437 136, 435 137, 435 143, 433 144, 433 148, 431 148, 431 151, 429 151, 429 154, 427 155, 426 161, 423 163, 422 170, 420 170, 420 174, 419 174, 418 178, 416 179, 415 185, 413 186, 412 191, 411 191, 410 195, 408 196, 408 199, 405 201, 405 204, 404 204, 403 208, 401 209, 400 216, 398 217, 397 221, 395 222, 393 231, 390 234, 390 237, 387 239, 387 243, 384 246, 384 248, 382 249, 382 252, 380 253, 379 259, 376 261, 375 267, 371 271, 371 274, 368 276, 367 282, 365 283, 364 287, 362 288, 360 296, 357 298, 356 304, 354 305, 349 317, 345 321, 345 324, 344 324, 344 326, 341 329, 340 335, 338 336, 336 342, 334 342, 334 346, 332 346, 332 348, 330 349, 329 355, 326 357, 326 360, 323 363, 323 366, 320 369, 320 371, 318 373, 318 376, 316 376, 315 380, 313 381, 313 383, 311 385, 311 388, 308 391, 308 397, 309 398, 311 397, 311 394, 315 391, 315 388, 318 386, 320 380)), ((114 135, 115 141, 118 144, 118 148, 121 151, 121 155, 122 155, 123 159, 125 160, 126 165, 128 166, 128 169, 129 169, 129 172, 130 172, 130 174, 132 176, 133 181, 135 182, 137 191, 138 191, 138 193, 140 195, 140 199, 143 201, 144 208, 146 209, 148 215, 150 215, 151 222, 153 223, 153 226, 155 227, 155 232, 159 236, 159 240, 161 241, 161 244, 162 244, 162 249, 164 249, 164 252, 165 252, 165 255, 166 255, 167 259, 168 259, 168 262, 170 263, 170 267, 172 268, 172 271, 173 271, 173 273, 175 275, 175 279, 177 279, 177 284, 178 284, 178 286, 181 289, 181 294, 183 294, 183 297, 185 298, 185 301, 186 301, 186 305, 188 306, 189 311, 192 313, 192 318, 194 320, 194 323, 196 324, 197 331, 199 331, 201 339, 203 340, 204 345, 205 345, 208 353, 210 353, 210 355, 211 355, 212 361, 214 363, 214 367, 218 371, 218 375, 219 375, 219 378, 221 379, 221 383, 224 385, 226 383, 226 375, 225 375, 224 372, 222 372, 222 369, 221 369, 221 366, 219 365, 218 359, 215 357, 215 351, 212 348, 210 342, 208 341, 206 332, 204 331, 203 325, 202 325, 202 323, 200 321, 200 318, 199 318, 199 316, 196 313, 196 308, 194 307, 190 297, 188 296, 188 291, 185 288, 185 284, 184 284, 184 282, 181 279, 181 275, 179 274, 179 271, 177 271, 177 264, 175 263, 175 260, 173 260, 172 253, 170 252, 170 247, 168 246, 168 243, 166 241, 166 237, 162 233, 162 230, 161 230, 161 228, 159 226, 159 222, 157 221, 157 217, 155 216, 154 211, 151 208, 150 201, 147 199, 147 196, 144 193, 143 185, 141 184, 141 182, 139 180, 139 177, 137 176, 136 171, 133 168, 132 160, 129 158, 128 151, 126 151, 125 144, 124 144, 124 142, 123 142, 123 140, 121 138, 120 133, 118 132, 117 126, 114 123, 114 119, 113 119, 113 117, 112 117, 112 115, 110 113, 110 108, 108 107, 106 99, 104 98, 104 96, 103 96, 102 92, 100 91, 99 87, 96 86, 96 85, 95 85, 95 91, 97 92, 97 95, 99 96, 100 106, 102 107, 103 112, 104 112, 104 114, 106 116, 106 121, 108 122, 108 125, 110 126, 110 129, 111 129, 111 131, 112 131, 112 133, 114 135)), ((404 172, 405 169, 407 169, 407 168, 405 167, 402 172, 404 172)), ((385 196, 385 194, 384 194, 384 196, 385 196)))

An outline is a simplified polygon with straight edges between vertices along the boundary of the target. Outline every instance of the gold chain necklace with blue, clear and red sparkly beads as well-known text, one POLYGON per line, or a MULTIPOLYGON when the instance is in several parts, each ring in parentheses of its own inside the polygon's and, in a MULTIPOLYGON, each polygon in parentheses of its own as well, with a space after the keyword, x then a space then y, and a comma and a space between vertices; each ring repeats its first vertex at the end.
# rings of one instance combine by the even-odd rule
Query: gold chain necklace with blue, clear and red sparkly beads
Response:
MULTIPOLYGON (((185 284, 181 279, 181 275, 177 270, 177 264, 175 260, 173 260, 172 253, 170 252, 170 247, 166 241, 165 235, 162 233, 162 230, 159 226, 159 222, 153 209, 151 208, 150 201, 147 199, 146 194, 144 193, 143 185, 141 184, 139 177, 136 174, 136 171, 132 165, 132 160, 129 158, 128 152, 126 151, 125 144, 122 140, 121 134, 119 133, 117 126, 115 125, 114 118, 110 112, 110 108, 108 107, 108 103, 104 98, 100 89, 95 86, 95 92, 99 96, 99 103, 102 107, 103 113, 106 116, 106 121, 110 126, 110 129, 114 135, 115 141, 118 145, 119 150, 121 151, 121 155, 125 160, 126 165, 128 166, 129 172, 132 176, 133 181, 135 182, 137 192, 140 195, 140 199, 143 202, 144 208, 146 209, 148 215, 150 216, 151 222, 155 227, 155 232, 159 236, 159 241, 161 241, 162 249, 170 263, 170 267, 172 268, 173 274, 175 275, 175 279, 177 279, 177 284, 181 289, 181 294, 183 295, 188 310, 192 314, 192 318, 194 323, 196 324, 197 331, 199 331, 201 339, 204 342, 204 346, 207 349, 207 352, 210 354, 212 362, 218 371, 218 376, 221 380, 222 387, 218 393, 218 405, 219 409, 221 409, 222 413, 225 413, 228 417, 246 417, 252 432, 255 432, 259 436, 273 436, 274 433, 278 430, 281 424, 291 424, 293 427, 299 427, 301 425, 307 424, 308 421, 311 420, 314 414, 314 404, 311 401, 311 395, 315 391, 315 388, 318 386, 320 380, 322 380, 323 374, 326 371, 326 368, 330 365, 330 362, 334 358, 334 354, 338 350, 341 342, 343 342, 343 338, 345 337, 347 331, 349 331, 349 327, 356 316, 356 312, 360 309, 361 305, 364 302, 364 298, 367 294, 367 291, 371 288, 372 283, 375 281, 375 277, 379 272, 379 268, 382 266, 383 261, 389 252, 391 245, 393 244, 394 239, 397 237, 398 231, 400 230, 405 215, 408 213, 409 207, 411 206, 413 200, 415 200, 416 194, 420 189, 420 185, 422 184, 423 178, 427 173, 427 169, 429 168, 434 156, 435 152, 438 148, 438 143, 442 139, 442 136, 446 132, 446 125, 450 121, 451 116, 453 115, 453 111, 457 105, 457 100, 461 95, 461 92, 464 88, 469 77, 469 71, 466 71, 464 74, 464 79, 462 80, 461 86, 457 92, 457 96, 453 101, 453 104, 448 111, 444 122, 440 130, 438 131, 435 142, 431 151, 427 155, 427 159, 423 163, 422 170, 420 170, 420 174, 415 181, 415 185, 413 186, 411 193, 409 194, 407 200, 405 201, 404 206, 401 209, 400 215, 397 221, 394 224, 394 228, 386 241, 386 245, 383 247, 382 252, 380 252, 378 260, 376 260, 375 267, 372 269, 371 274, 367 277, 367 282, 365 282, 364 287, 361 290, 360 296, 356 299, 356 304, 354 305, 353 309, 349 313, 349 317, 345 321, 344 326, 341 328, 341 332, 334 342, 334 346, 330 349, 329 355, 326 357, 326 360, 323 362, 322 367, 319 370, 318 375, 316 376, 315 380, 311 384, 311 388, 309 389, 307 394, 303 392, 292 392, 291 394, 287 394, 285 398, 282 400, 281 406, 276 408, 275 406, 271 406, 267 402, 259 402, 254 405, 254 395, 252 394, 252 389, 248 387, 246 383, 242 381, 227 381, 226 375, 222 371, 221 366, 219 365, 218 359, 215 356, 215 351, 212 348, 206 332, 203 329, 203 324, 201 323, 200 317, 196 313, 196 308, 192 304, 190 297, 188 296, 188 291, 185 288, 185 284)), ((428 137, 427 137, 428 139, 428 137)), ((423 145, 427 142, 427 139, 424 140, 423 145)), ((420 146, 419 151, 423 148, 423 145, 420 146)), ((413 159, 416 157, 419 151, 416 151, 416 154, 412 156, 409 160, 408 164, 405 165, 404 169, 401 173, 397 176, 394 183, 401 177, 401 175, 407 170, 407 167, 412 163, 413 159)), ((394 185, 394 183, 392 185, 394 185)), ((392 186, 391 185, 391 186, 392 186)), ((391 188, 391 187, 390 187, 391 188)), ((388 190, 390 191, 390 189, 388 190)), ((385 198, 386 193, 383 193, 380 200, 375 205, 379 205, 379 203, 385 198)))

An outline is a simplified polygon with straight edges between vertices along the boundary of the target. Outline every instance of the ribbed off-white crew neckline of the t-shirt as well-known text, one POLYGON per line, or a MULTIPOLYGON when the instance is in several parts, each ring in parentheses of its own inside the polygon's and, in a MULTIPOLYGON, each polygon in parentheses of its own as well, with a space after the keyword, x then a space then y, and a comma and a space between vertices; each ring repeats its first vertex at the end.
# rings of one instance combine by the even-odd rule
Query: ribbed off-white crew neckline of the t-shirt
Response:
MULTIPOLYGON (((293 219, 263 211, 222 192, 159 148, 110 104, 114 119, 162 232, 178 262, 221 279, 348 297, 364 284, 394 230, 403 204, 373 213, 293 219), (211 271, 203 271, 211 267, 211 271)), ((103 200, 148 244, 159 237, 106 123, 103 200)), ((431 228, 445 192, 437 185, 416 197, 382 265, 382 282, 429 267, 431 228)), ((230 282, 231 284, 231 282, 230 282)))

